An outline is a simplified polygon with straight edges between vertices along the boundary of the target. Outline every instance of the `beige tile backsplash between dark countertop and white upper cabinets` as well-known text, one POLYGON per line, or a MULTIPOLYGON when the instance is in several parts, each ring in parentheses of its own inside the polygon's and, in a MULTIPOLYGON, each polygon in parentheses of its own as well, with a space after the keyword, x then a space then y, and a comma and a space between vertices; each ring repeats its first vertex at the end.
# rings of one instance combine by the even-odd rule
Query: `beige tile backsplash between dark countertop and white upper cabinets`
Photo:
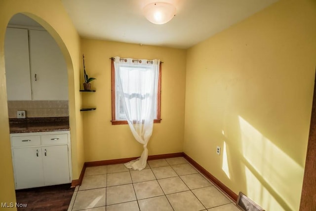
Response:
POLYGON ((16 118, 16 111, 25 110, 32 117, 68 117, 68 100, 8 101, 9 118, 16 118))

